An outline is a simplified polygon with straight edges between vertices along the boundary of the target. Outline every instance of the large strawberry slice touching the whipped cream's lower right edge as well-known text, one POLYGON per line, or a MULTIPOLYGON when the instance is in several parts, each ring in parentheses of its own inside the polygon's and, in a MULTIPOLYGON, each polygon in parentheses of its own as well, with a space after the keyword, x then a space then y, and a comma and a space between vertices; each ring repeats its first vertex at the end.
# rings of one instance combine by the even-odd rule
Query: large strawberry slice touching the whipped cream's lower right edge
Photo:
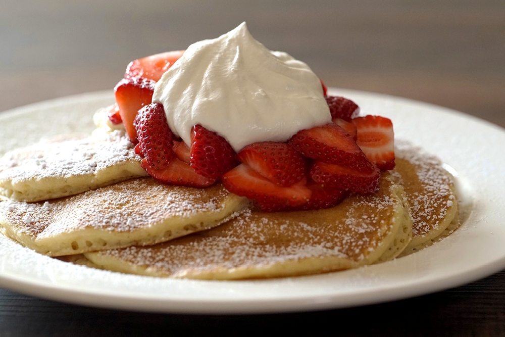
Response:
POLYGON ((298 131, 289 139, 289 144, 308 158, 358 171, 374 170, 374 165, 356 145, 354 139, 334 123, 298 131))

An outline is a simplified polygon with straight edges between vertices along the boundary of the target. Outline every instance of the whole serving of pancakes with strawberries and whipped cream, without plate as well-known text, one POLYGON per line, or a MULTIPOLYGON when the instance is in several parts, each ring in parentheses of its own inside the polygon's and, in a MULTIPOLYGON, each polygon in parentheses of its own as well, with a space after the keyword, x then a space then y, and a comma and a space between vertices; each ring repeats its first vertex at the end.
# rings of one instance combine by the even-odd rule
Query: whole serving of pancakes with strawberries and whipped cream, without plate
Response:
POLYGON ((132 61, 110 103, 91 136, 0 161, 4 235, 80 268, 234 280, 396 263, 460 225, 439 160, 395 151, 381 110, 245 23, 132 61))

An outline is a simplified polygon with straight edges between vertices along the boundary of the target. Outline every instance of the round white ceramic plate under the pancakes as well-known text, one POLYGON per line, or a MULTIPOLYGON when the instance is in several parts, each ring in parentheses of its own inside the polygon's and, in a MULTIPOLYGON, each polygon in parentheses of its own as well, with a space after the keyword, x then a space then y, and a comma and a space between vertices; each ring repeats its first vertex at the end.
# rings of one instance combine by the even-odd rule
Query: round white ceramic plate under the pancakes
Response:
MULTIPOLYGON (((0 237, 0 285, 46 299, 179 313, 286 312, 340 308, 436 292, 505 268, 505 131, 449 109, 367 92, 331 89, 387 116, 396 136, 442 158, 459 176, 463 226, 442 242, 387 263, 337 273, 254 281, 197 281, 126 275, 75 266, 0 237)), ((0 155, 42 136, 92 130, 113 102, 96 92, 0 114, 0 155)))

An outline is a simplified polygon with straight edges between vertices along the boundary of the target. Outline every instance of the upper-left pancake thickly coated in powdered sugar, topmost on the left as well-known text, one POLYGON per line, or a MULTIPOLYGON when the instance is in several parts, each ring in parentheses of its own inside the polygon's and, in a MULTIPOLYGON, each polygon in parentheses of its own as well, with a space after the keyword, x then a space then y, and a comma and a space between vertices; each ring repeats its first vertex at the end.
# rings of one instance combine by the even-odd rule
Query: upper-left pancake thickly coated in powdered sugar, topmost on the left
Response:
POLYGON ((56 139, 14 150, 0 159, 0 196, 36 202, 146 176, 124 131, 84 139, 56 139))

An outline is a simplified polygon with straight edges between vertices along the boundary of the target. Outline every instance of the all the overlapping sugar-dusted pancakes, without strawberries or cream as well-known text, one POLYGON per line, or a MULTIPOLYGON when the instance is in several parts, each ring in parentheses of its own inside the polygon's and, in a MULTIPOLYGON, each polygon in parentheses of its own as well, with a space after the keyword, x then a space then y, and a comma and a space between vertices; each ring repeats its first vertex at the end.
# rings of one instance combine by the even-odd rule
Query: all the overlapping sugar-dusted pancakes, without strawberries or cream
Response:
POLYGON ((221 184, 162 184, 124 131, 59 139, 0 159, 0 231, 61 260, 151 276, 315 274, 413 253, 459 226, 452 177, 403 144, 373 195, 330 209, 262 213, 221 184))

